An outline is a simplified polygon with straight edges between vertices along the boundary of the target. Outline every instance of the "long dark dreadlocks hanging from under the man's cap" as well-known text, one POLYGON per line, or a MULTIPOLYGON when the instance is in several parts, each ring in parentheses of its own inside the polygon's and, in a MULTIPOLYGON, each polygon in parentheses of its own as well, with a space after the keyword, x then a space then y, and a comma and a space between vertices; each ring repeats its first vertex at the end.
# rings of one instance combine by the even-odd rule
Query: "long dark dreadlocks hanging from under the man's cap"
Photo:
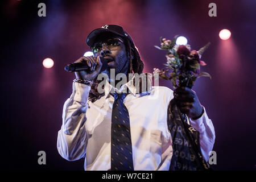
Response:
MULTIPOLYGON (((130 40, 125 39, 125 48, 127 52, 127 61, 129 61, 129 73, 138 73, 141 74, 144 68, 144 63, 141 60, 141 56, 139 55, 138 48, 130 42, 130 40)), ((94 80, 94 84, 91 86, 90 92, 89 92, 89 101, 95 102, 96 100, 100 99, 102 96, 104 96, 104 93, 100 94, 98 93, 97 87, 99 84, 99 80, 97 80, 97 77, 94 80)))

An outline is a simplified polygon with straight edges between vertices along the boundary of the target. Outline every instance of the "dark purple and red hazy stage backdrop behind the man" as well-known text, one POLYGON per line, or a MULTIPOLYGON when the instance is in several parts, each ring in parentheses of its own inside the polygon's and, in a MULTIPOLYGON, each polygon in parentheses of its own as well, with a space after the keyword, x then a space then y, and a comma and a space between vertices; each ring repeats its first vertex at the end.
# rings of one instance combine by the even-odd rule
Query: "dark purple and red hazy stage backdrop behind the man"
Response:
MULTIPOLYGON (((57 132, 65 100, 72 93, 69 64, 89 51, 86 36, 105 24, 120 24, 133 37, 146 65, 163 68, 160 36, 176 34, 192 49, 211 46, 193 90, 216 131, 216 170, 256 169, 255 40, 256 1, 1 1, 1 169, 82 170, 84 159, 68 162, 57 152, 57 132), (38 4, 46 3, 46 17, 38 4), (208 5, 217 5, 217 17, 208 5), (229 40, 218 32, 228 28, 229 40), (46 69, 42 61, 55 65, 46 69), (47 164, 38 164, 38 151, 47 164)), ((168 81, 160 85, 171 87, 168 81)))

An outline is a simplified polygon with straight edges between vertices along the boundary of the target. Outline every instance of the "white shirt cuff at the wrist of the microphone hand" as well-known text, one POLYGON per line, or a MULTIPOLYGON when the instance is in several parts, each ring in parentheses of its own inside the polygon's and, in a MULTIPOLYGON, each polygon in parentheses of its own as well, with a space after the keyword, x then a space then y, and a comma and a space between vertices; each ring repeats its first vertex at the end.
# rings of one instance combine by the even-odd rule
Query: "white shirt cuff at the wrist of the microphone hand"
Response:
POLYGON ((89 97, 90 86, 81 84, 79 82, 73 82, 73 98, 77 102, 86 103, 89 97))

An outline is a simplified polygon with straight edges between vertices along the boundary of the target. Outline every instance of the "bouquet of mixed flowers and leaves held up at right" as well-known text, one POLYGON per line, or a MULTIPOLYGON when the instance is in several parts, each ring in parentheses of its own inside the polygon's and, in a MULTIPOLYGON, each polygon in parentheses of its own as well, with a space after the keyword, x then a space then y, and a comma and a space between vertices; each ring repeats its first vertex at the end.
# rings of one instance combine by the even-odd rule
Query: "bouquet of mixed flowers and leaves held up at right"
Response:
POLYGON ((176 39, 177 35, 172 40, 167 40, 162 37, 160 38, 161 46, 155 47, 167 51, 167 62, 164 64, 166 65, 166 68, 154 68, 153 73, 159 73, 160 78, 171 80, 174 88, 179 86, 188 86, 189 88, 192 88, 196 78, 200 76, 210 77, 209 73, 200 72, 200 66, 207 65, 200 59, 210 43, 199 49, 199 51, 191 51, 189 44, 178 46, 176 44, 176 39))

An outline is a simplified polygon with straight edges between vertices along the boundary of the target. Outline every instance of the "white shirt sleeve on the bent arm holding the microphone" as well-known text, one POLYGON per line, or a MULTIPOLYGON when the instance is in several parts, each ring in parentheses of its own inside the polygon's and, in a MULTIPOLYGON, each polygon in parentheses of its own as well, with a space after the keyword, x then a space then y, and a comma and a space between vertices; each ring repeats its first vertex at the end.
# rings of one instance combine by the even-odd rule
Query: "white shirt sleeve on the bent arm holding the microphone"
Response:
POLYGON ((78 160, 86 152, 86 110, 90 86, 73 82, 73 92, 63 106, 63 123, 57 136, 57 150, 67 160, 78 160))

